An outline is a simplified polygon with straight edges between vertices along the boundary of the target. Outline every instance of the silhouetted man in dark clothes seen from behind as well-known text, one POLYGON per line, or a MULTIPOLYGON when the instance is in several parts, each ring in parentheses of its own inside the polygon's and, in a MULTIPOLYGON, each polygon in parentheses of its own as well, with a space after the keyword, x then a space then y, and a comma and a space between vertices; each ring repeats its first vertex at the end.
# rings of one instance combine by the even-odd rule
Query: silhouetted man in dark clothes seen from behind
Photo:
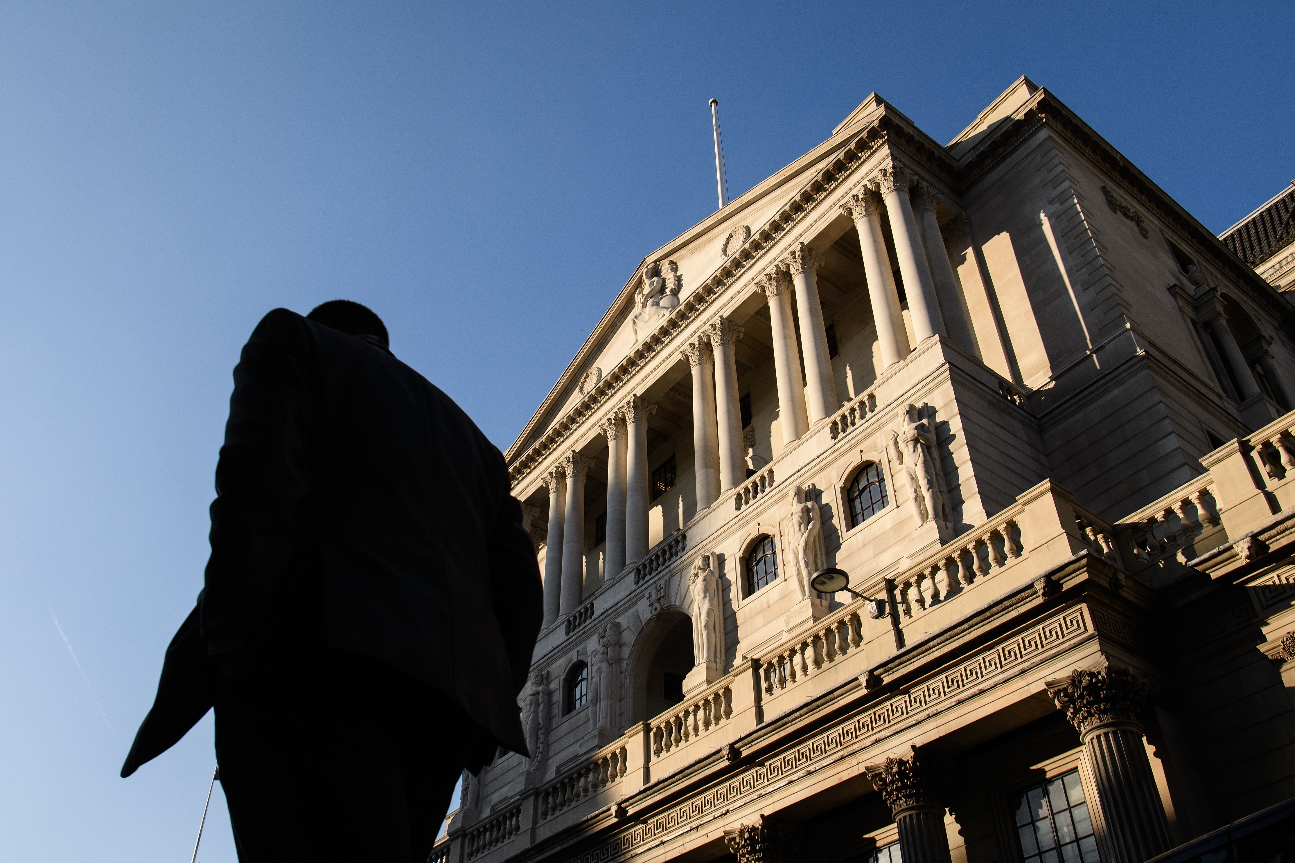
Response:
POLYGON ((122 775, 216 709, 238 858, 426 860, 464 767, 524 753, 543 617, 500 452, 359 303, 234 369, 198 606, 122 775))

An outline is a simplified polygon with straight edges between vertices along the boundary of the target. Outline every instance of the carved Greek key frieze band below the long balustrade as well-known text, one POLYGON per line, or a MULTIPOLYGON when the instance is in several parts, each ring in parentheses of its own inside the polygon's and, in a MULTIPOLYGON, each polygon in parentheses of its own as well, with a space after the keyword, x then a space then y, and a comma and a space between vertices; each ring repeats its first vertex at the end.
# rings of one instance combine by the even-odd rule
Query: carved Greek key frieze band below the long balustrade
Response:
POLYGON ((774 756, 764 763, 754 765, 720 785, 711 787, 690 800, 657 813, 648 820, 609 838, 598 847, 571 858, 569 863, 606 863, 620 859, 644 844, 685 827, 708 813, 737 805, 742 797, 778 781, 787 774, 803 770, 816 761, 848 749, 913 714, 935 710, 945 701, 951 701, 979 684, 989 683, 1015 666, 1090 631, 1093 628, 1085 609, 1083 607, 1068 608, 1019 635, 1000 642, 936 678, 914 684, 906 692, 891 696, 881 704, 856 713, 794 749, 774 756))

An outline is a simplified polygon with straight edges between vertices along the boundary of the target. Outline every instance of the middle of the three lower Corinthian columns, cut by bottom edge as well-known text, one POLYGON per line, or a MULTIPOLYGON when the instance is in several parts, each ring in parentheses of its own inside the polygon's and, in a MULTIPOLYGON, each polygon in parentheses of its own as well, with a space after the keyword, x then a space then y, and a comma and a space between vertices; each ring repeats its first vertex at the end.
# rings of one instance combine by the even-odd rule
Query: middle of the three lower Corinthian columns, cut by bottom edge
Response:
POLYGON ((951 863, 939 771, 917 747, 904 758, 864 767, 890 806, 904 863, 951 863))

